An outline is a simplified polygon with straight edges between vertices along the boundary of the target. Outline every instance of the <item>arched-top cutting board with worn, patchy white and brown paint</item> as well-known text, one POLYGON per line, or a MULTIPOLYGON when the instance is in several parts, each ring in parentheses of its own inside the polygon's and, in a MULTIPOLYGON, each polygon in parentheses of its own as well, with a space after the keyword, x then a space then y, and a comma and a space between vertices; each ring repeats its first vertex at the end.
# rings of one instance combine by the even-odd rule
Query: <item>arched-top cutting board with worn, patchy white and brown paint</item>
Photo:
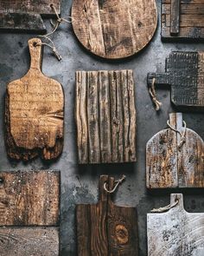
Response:
MULTIPOLYGON (((169 115, 169 124, 184 133, 182 113, 169 115)), ((204 142, 187 128, 185 143, 171 128, 154 135, 146 145, 148 188, 204 187, 204 142)))

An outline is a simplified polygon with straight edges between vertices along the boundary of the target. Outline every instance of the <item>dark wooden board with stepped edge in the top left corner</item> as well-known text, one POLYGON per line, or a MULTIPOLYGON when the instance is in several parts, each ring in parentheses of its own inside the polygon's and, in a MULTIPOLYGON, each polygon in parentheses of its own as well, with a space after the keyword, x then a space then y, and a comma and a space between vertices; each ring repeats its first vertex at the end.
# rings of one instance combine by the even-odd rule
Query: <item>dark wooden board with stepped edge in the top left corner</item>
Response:
POLYGON ((1 0, 0 1, 0 30, 25 30, 35 33, 46 32, 41 15, 54 15, 50 4, 61 13, 61 0, 1 0))

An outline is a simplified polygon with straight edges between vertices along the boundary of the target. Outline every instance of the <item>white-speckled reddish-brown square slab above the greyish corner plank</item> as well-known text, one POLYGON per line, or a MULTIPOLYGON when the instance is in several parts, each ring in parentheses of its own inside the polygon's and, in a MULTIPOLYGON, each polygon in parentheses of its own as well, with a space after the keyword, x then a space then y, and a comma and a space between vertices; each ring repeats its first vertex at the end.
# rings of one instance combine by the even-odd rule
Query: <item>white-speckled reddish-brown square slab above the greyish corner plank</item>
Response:
POLYGON ((0 226, 58 226, 60 179, 57 171, 1 172, 0 226))

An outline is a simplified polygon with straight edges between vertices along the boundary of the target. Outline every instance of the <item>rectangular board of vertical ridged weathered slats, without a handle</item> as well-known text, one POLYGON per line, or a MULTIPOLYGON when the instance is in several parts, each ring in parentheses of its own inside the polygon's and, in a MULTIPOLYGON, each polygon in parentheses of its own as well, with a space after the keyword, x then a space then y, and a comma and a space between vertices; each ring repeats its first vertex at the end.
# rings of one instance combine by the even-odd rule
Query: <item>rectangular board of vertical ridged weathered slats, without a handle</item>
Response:
POLYGON ((80 164, 136 161, 132 70, 76 72, 80 164))

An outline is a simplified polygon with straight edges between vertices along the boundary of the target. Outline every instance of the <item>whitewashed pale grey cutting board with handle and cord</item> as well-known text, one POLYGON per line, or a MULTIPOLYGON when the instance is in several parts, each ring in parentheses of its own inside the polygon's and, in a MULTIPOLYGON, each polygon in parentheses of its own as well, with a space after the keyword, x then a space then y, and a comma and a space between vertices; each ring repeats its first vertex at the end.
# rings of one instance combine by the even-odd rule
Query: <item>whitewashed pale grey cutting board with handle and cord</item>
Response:
POLYGON ((148 256, 204 255, 204 213, 188 213, 182 194, 171 194, 176 207, 147 214, 148 256))

